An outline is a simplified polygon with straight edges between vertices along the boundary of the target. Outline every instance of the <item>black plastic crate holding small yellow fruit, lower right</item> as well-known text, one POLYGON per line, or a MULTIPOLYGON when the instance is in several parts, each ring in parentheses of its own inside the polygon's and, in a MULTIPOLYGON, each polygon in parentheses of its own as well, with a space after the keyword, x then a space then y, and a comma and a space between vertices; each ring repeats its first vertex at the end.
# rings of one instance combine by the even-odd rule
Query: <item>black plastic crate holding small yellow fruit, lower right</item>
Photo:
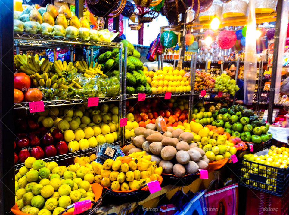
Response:
POLYGON ((237 175, 240 184, 277 196, 282 196, 289 186, 289 167, 284 169, 241 159, 237 175))

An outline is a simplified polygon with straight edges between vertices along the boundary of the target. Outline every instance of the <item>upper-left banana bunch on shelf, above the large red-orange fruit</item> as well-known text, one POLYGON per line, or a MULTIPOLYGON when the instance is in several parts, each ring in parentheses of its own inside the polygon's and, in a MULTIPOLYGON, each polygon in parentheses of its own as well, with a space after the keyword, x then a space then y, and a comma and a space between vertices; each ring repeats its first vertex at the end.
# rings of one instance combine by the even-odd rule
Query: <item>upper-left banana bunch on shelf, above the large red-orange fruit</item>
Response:
POLYGON ((49 62, 48 59, 42 58, 39 61, 38 54, 31 55, 15 55, 14 64, 20 72, 24 72, 27 75, 33 75, 36 72, 39 74, 47 73, 52 66, 52 62, 49 62))

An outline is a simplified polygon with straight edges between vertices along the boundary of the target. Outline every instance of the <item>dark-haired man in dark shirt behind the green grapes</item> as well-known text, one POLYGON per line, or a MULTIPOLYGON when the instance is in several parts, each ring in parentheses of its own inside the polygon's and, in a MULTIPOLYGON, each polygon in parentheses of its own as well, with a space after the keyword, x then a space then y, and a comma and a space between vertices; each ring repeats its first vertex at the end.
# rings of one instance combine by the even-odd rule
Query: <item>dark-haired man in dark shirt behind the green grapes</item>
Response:
MULTIPOLYGON (((231 79, 235 79, 235 73, 236 73, 236 69, 237 69, 237 65, 235 62, 231 62, 228 64, 228 68, 227 70, 227 74, 228 76, 231 77, 231 79)), ((237 92, 235 92, 236 94, 236 98, 235 98, 235 104, 240 104, 242 105, 244 103, 244 81, 242 81, 241 79, 237 79, 237 85, 240 88, 237 92)), ((212 98, 215 101, 218 101, 219 99, 225 99, 227 100, 229 103, 232 103, 234 100, 234 96, 228 94, 228 93, 224 93, 222 96, 218 97, 216 95, 212 95, 212 98)))

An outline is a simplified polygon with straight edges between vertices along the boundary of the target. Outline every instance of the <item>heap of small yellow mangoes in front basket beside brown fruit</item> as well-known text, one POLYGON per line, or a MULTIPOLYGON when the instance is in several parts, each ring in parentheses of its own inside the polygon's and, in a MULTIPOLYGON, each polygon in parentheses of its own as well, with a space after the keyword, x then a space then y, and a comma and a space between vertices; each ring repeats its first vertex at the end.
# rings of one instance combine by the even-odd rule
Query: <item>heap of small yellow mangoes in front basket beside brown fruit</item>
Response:
POLYGON ((158 180, 163 172, 156 162, 151 162, 151 155, 145 151, 134 152, 129 156, 107 159, 104 164, 92 162, 92 169, 97 174, 95 182, 112 190, 138 190, 146 183, 158 180))

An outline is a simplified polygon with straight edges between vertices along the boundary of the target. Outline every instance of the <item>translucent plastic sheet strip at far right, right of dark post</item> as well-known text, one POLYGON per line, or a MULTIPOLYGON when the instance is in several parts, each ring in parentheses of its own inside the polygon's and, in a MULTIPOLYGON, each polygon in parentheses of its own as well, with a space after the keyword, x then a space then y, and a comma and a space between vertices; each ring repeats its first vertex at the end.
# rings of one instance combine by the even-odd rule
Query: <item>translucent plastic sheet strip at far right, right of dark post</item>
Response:
POLYGON ((280 86, 281 86, 281 76, 282 76, 282 64, 283 64, 283 56, 284 56, 284 48, 285 48, 285 40, 287 37, 287 24, 288 24, 288 2, 287 0, 283 0, 282 4, 282 15, 281 15, 281 23, 280 23, 280 37, 278 44, 278 59, 277 59, 277 71, 276 71, 276 84, 275 84, 275 95, 274 95, 274 103, 278 103, 280 86))

